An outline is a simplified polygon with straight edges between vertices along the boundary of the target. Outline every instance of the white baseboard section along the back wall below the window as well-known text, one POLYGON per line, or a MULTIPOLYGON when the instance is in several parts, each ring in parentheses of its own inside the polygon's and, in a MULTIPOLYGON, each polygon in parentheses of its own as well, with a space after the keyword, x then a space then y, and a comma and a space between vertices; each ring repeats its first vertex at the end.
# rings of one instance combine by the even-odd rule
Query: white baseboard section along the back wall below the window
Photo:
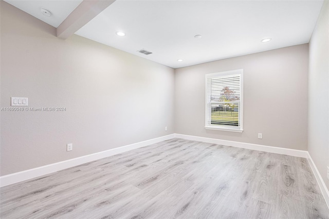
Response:
POLYGON ((218 145, 226 145, 226 146, 233 146, 237 148, 246 148, 250 150, 257 150, 257 151, 265 151, 271 153, 278 153, 278 154, 285 154, 290 156, 299 156, 299 157, 308 157, 308 152, 303 150, 295 150, 295 149, 288 149, 288 148, 279 148, 279 147, 272 147, 272 146, 265 146, 265 145, 256 145, 250 143, 243 143, 243 142, 233 142, 227 140, 220 140, 216 138, 209 138, 209 137, 198 137, 193 135, 185 135, 185 134, 175 134, 177 138, 183 138, 186 140, 198 141, 198 142, 206 142, 218 145))

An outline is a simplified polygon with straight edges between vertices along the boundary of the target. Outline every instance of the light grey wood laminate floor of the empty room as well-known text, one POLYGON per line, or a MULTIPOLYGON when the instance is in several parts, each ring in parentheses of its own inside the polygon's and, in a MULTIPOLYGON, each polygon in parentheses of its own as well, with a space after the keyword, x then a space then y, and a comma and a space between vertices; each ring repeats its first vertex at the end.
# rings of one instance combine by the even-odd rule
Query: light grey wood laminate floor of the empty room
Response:
POLYGON ((307 160, 173 138, 1 188, 1 218, 329 218, 307 160))

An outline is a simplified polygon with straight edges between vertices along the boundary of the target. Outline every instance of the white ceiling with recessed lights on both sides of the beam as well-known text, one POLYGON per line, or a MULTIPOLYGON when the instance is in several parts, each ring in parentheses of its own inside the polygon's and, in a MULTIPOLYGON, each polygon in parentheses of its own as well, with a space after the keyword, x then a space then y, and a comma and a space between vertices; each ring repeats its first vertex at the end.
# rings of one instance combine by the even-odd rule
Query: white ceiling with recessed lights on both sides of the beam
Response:
MULTIPOLYGON (((58 0, 5 1, 54 27, 81 3, 58 0), (41 7, 47 8, 56 17, 45 17, 40 12, 41 7), (56 22, 50 22, 52 18, 56 22)), ((76 34, 179 68, 308 43, 322 4, 322 0, 117 0, 76 34), (117 36, 117 31, 123 31, 126 35, 117 36), (202 38, 194 38, 196 34, 202 35, 202 38), (272 40, 261 43, 261 39, 267 37, 272 40), (153 53, 144 55, 137 52, 140 49, 153 53), (177 59, 184 61, 177 62, 177 59)))

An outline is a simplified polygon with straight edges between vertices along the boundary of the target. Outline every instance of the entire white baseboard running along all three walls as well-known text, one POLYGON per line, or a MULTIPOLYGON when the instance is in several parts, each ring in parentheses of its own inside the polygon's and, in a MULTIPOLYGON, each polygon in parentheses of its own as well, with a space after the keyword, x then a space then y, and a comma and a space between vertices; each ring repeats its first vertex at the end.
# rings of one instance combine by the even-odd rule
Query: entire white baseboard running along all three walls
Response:
POLYGON ((133 150, 136 148, 141 148, 141 147, 155 144, 158 142, 166 141, 166 140, 169 140, 174 137, 191 140, 191 141, 206 142, 206 143, 226 145, 226 146, 232 146, 232 147, 238 147, 238 148, 246 148, 246 149, 251 149, 251 150, 285 154, 285 155, 290 155, 290 156, 305 157, 305 158, 307 158, 309 165, 313 170, 313 173, 317 179, 317 182, 321 189, 323 197, 329 207, 328 189, 326 188, 324 181, 323 181, 316 165, 314 164, 314 162, 312 160, 312 157, 310 157, 310 155, 307 151, 271 147, 271 146, 257 145, 257 144, 249 144, 249 143, 242 143, 242 142, 233 142, 233 141, 227 141, 227 140, 220 140, 220 139, 216 139, 216 138, 199 137, 199 136, 192 136, 192 135, 185 135, 185 134, 169 134, 166 136, 153 138, 151 140, 138 142, 138 143, 134 143, 131 145, 126 145, 126 146, 122 146, 119 148, 113 148, 113 149, 109 149, 106 151, 101 151, 98 153, 93 153, 93 154, 73 158, 73 159, 70 159, 67 161, 62 161, 62 162, 49 164, 49 165, 42 166, 42 167, 37 167, 37 168, 29 169, 29 170, 24 170, 21 172, 4 175, 4 176, 0 177, 0 187, 7 186, 10 184, 14 184, 14 183, 19 183, 19 182, 22 182, 25 180, 30 180, 31 178, 34 178, 34 177, 42 176, 42 175, 56 172, 59 170, 63 170, 63 169, 67 169, 70 167, 77 166, 77 165, 85 164, 85 163, 88 163, 91 161, 96 161, 96 160, 99 160, 104 157, 112 156, 112 155, 115 155, 118 153, 123 153, 123 152, 130 151, 130 150, 133 150))

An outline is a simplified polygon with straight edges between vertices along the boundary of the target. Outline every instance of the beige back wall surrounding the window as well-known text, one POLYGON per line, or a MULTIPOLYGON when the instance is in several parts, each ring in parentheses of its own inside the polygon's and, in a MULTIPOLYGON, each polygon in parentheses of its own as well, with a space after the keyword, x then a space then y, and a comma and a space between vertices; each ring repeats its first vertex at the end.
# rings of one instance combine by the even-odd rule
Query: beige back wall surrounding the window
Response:
POLYGON ((307 44, 176 69, 175 132, 307 150, 307 69, 307 44), (244 131, 206 130, 205 74, 235 69, 244 69, 244 131))

